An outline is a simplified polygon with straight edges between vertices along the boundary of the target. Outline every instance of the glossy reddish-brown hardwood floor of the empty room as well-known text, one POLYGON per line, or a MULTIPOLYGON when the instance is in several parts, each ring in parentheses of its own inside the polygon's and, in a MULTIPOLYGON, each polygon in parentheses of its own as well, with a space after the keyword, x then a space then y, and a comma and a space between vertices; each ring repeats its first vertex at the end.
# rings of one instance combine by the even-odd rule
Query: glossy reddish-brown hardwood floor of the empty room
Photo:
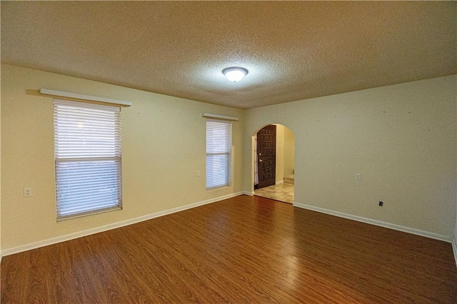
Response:
POLYGON ((1 303, 456 303, 450 243, 258 196, 1 261, 1 303))

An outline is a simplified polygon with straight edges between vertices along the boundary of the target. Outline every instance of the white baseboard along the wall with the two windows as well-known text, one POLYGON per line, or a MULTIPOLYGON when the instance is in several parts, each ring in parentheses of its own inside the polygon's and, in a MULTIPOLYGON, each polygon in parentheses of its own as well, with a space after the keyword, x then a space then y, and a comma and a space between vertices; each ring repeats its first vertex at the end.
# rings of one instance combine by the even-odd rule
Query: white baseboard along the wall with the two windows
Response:
POLYGON ((100 226, 100 227, 91 228, 91 229, 88 229, 88 230, 79 231, 79 232, 76 232, 76 233, 70 233, 70 234, 67 234, 67 235, 58 236, 56 238, 49 238, 47 240, 40 240, 39 242, 36 242, 36 243, 30 243, 30 244, 21 245, 21 246, 15 247, 15 248, 9 248, 9 249, 6 249, 6 250, 1 250, 0 258, 1 258, 1 256, 11 255, 11 254, 14 254, 14 253, 20 253, 20 252, 23 252, 23 251, 26 251, 26 250, 32 250, 32 249, 44 247, 44 246, 47 246, 47 245, 61 243, 61 242, 65 242, 66 240, 73 240, 75 238, 81 238, 83 236, 87 236, 87 235, 91 235, 91 234, 95 234, 95 233, 100 233, 100 232, 103 232, 103 231, 106 231, 106 230, 111 230, 111 229, 121 228, 121 227, 124 227, 124 226, 129 226, 129 225, 134 224, 134 223, 148 221, 148 220, 151 220, 152 218, 159 218, 160 216, 166 216, 166 215, 169 215, 171 213, 176 213, 176 212, 179 212, 179 211, 184 211, 184 210, 187 210, 187 209, 196 208, 196 207, 203 206, 203 205, 206 205, 206 204, 209 204, 209 203, 215 203, 216 201, 222 201, 222 200, 225 200, 227 198, 233 198, 235 196, 241 196, 243 194, 244 194, 243 192, 232 193, 232 194, 229 194, 229 195, 226 195, 226 196, 220 196, 219 198, 211 198, 211 199, 209 199, 207 201, 201 201, 201 202, 198 202, 198 203, 191 203, 191 204, 186 205, 186 206, 171 208, 171 209, 166 210, 166 211, 159 211, 159 212, 156 212, 156 213, 148 214, 146 216, 139 216, 138 218, 131 218, 129 220, 121 221, 121 222, 118 222, 118 223, 112 223, 112 224, 108 224, 108 225, 105 225, 105 226, 100 226))

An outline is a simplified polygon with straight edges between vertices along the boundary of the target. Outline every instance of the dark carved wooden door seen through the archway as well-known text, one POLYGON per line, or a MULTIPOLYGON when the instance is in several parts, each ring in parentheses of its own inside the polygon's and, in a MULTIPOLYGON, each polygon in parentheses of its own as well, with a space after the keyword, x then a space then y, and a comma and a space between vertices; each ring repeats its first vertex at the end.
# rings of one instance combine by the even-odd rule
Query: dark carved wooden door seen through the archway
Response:
POLYGON ((257 133, 258 186, 276 183, 276 126, 270 125, 257 133))

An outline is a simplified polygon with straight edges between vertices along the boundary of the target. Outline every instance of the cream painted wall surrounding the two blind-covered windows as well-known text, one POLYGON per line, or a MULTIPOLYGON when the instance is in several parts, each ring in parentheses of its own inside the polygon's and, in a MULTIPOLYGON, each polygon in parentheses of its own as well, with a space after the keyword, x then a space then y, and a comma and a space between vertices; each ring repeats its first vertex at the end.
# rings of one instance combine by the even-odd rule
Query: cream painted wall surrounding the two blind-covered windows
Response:
POLYGON ((240 109, 2 64, 1 250, 238 193, 242 134, 240 109), (39 96, 39 88, 133 102, 121 110, 123 210, 56 222, 53 98, 39 96), (229 187, 206 191, 201 113, 240 118, 233 122, 229 187), (24 187, 32 197, 24 198, 24 187))

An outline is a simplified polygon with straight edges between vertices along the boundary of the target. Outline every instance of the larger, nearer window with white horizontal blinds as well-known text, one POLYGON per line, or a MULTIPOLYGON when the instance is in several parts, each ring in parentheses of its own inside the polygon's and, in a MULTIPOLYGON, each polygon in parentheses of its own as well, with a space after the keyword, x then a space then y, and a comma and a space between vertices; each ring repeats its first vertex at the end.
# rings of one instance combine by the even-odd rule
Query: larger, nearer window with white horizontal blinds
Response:
POLYGON ((57 220, 122 208, 116 106, 54 100, 57 220))

